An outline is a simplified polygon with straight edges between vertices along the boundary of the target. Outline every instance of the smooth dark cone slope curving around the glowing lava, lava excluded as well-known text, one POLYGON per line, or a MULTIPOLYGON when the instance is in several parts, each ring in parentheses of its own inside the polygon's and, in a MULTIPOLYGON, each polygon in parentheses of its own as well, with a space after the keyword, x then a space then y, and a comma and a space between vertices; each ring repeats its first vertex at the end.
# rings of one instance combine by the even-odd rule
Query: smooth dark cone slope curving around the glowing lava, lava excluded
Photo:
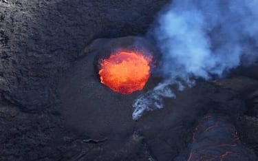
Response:
POLYGON ((105 58, 120 48, 146 49, 149 50, 148 54, 152 52, 147 41, 136 36, 98 39, 86 47, 85 58, 76 62, 61 79, 58 90, 62 103, 61 112, 69 124, 87 131, 89 136, 110 136, 114 133, 130 136, 133 132, 131 103, 142 92, 131 95, 113 92, 100 83, 96 70, 100 58, 105 58))

